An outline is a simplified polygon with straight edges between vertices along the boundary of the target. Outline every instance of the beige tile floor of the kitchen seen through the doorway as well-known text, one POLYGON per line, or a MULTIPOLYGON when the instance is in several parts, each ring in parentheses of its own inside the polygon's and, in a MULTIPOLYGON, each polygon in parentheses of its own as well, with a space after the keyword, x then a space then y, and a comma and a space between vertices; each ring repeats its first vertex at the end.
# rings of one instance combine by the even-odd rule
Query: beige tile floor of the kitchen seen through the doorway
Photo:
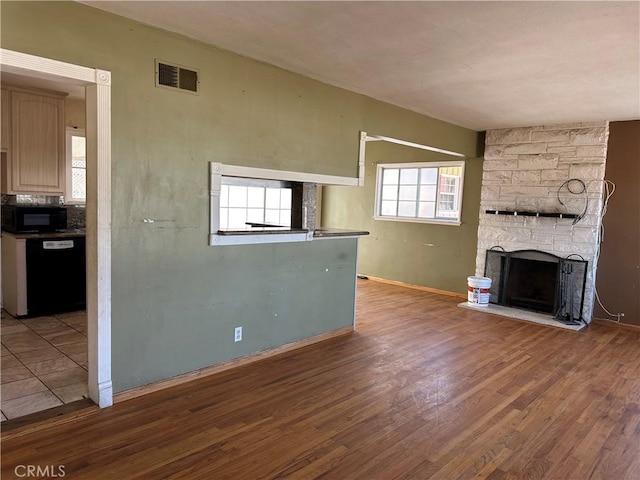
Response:
POLYGON ((3 422, 87 397, 86 312, 0 322, 3 422))

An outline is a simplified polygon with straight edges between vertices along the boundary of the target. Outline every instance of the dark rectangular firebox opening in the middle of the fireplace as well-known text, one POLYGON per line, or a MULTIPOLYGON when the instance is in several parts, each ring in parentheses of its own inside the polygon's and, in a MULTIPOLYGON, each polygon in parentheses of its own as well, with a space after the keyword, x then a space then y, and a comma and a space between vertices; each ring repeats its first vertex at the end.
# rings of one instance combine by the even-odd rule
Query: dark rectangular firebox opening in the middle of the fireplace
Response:
POLYGON ((556 302, 558 263, 512 258, 505 305, 553 314, 556 302))

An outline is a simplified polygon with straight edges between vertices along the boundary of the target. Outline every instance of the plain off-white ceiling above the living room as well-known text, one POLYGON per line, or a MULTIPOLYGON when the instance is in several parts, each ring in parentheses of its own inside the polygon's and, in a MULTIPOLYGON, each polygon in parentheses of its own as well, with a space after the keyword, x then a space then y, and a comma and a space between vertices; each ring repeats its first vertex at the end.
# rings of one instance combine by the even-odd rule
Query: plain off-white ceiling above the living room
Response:
POLYGON ((638 1, 83 3, 474 130, 640 118, 638 1))

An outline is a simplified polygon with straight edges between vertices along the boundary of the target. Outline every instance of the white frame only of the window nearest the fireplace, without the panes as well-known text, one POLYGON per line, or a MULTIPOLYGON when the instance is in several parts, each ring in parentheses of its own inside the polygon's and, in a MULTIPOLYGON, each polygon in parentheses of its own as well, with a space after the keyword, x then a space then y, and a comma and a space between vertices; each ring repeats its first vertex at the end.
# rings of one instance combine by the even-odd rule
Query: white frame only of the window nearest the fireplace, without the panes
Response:
MULTIPOLYGON (((452 162, 417 162, 417 163, 384 163, 378 164, 376 171, 376 196, 375 196, 375 211, 373 218, 375 220, 384 220, 391 222, 409 222, 409 223, 432 223, 438 225, 455 225, 459 226, 462 224, 462 193, 464 189, 464 171, 465 171, 465 161, 452 161, 452 162), (419 217, 401 217, 401 216, 390 216, 390 215, 382 215, 381 214, 381 206, 382 206, 382 173, 385 169, 414 169, 414 168, 447 168, 447 167, 460 167, 462 169, 462 173, 460 175, 460 181, 457 185, 457 210, 460 212, 458 218, 445 218, 445 217, 436 217, 436 218, 419 218, 419 217)), ((438 179, 436 181, 436 212, 438 208, 438 203, 440 201, 440 173, 438 172, 438 179)), ((446 175, 446 174, 445 174, 446 175)), ((416 203, 419 199, 416 199, 416 203)))

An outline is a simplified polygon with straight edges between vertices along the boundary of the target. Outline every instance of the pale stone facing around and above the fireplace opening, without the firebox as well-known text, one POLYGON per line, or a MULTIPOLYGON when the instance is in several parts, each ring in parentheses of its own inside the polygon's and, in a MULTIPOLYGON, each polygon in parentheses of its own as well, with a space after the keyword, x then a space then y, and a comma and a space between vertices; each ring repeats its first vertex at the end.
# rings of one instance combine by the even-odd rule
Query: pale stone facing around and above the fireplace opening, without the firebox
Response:
POLYGON ((486 251, 535 249, 589 262, 582 311, 591 321, 599 231, 602 222, 608 122, 490 130, 485 141, 476 274, 484 273, 486 251), (586 185, 584 193, 579 179, 586 185), (567 187, 573 192, 571 193, 567 187), (564 205, 563 205, 564 204, 564 205), (586 212, 571 219, 491 215, 485 210, 586 212))

